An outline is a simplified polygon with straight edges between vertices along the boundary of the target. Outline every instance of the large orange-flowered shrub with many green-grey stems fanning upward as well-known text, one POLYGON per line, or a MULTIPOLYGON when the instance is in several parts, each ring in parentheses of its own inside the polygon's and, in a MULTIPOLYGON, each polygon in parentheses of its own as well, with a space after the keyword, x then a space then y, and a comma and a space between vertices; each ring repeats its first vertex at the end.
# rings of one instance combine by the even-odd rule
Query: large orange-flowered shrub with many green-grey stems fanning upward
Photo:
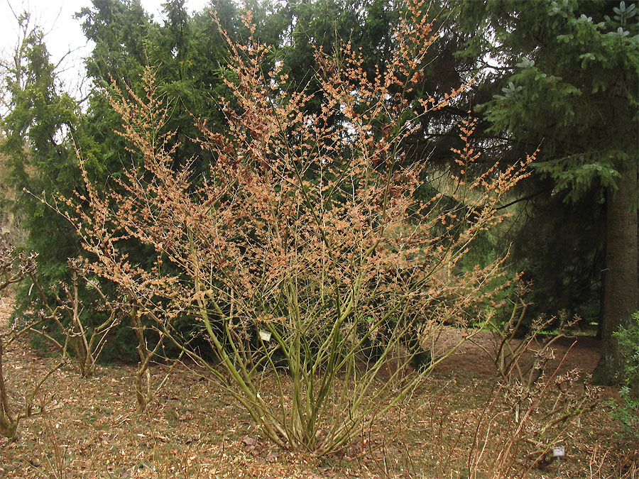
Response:
POLYGON ((502 260, 456 267, 503 219, 501 200, 530 158, 467 178, 478 158, 469 119, 466 147, 454 152, 461 174, 447 192, 457 206, 442 207, 443 193, 417 199, 427 160, 408 162, 405 140, 420 116, 468 85, 442 102, 410 100, 437 38, 423 2, 406 4, 393 37, 395 54, 374 77, 348 42, 317 50, 320 92, 288 90, 281 62, 253 35, 241 44, 226 37, 224 81, 234 97, 220 100, 224 131, 197 119, 197 141, 214 158, 202 175, 192 163, 175 167, 167 101, 149 69, 146 96, 111 97, 133 164, 106 191, 84 172, 86 193, 68 200, 75 214, 67 217, 95 258, 86 268, 119 285, 136 315, 207 368, 285 448, 322 455, 347 446, 442 359, 410 370, 422 342, 444 324, 465 326, 465 312, 506 281, 502 260), (322 109, 307 113, 315 95, 322 109), (132 240, 155 250, 152 268, 126 253, 132 240), (197 322, 218 364, 173 329, 180 316, 197 322), (380 380, 391 359, 389 380, 380 380))

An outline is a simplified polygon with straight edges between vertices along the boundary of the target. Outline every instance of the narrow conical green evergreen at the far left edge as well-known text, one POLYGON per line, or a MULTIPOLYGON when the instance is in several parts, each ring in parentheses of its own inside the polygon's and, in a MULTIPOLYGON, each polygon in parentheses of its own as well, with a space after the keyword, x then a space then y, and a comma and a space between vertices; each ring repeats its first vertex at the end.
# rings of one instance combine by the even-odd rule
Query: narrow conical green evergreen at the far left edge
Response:
POLYGON ((77 239, 59 214, 32 194, 55 202, 55 194, 70 194, 80 185, 70 133, 79 110, 75 99, 62 92, 40 28, 24 13, 18 19, 21 40, 13 64, 4 72, 9 112, 2 119, 6 138, 0 152, 9 180, 18 192, 14 205, 21 226, 28 231, 28 248, 40 256, 40 273, 48 282, 65 277, 65 264, 77 252, 77 239))

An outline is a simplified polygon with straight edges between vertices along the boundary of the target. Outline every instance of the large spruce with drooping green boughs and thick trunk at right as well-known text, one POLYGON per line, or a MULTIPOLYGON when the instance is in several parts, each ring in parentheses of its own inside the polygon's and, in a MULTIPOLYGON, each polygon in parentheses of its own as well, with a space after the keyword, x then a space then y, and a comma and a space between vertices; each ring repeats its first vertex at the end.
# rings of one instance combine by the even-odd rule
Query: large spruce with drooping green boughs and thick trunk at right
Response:
POLYGON ((515 156, 540 145, 531 188, 547 204, 557 194, 605 204, 601 381, 620 365, 612 332, 639 306, 637 13, 623 1, 459 2, 464 54, 479 58, 479 89, 493 95, 478 109, 494 143, 515 156))

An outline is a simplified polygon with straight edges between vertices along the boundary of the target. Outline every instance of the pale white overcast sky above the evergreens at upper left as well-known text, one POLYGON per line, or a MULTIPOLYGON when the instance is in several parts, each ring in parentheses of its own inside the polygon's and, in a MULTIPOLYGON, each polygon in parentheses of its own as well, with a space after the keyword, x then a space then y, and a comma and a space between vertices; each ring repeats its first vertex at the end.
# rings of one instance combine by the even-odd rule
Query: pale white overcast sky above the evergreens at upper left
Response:
MULTIPOLYGON (((142 6, 154 18, 162 18, 160 11, 165 0, 141 0, 142 6)), ((187 0, 189 11, 200 11, 207 0, 187 0)), ((83 77, 82 57, 92 49, 82 34, 80 21, 73 18, 91 0, 0 0, 0 55, 11 55, 18 41, 18 22, 15 16, 23 11, 31 13, 32 23, 42 27, 45 43, 55 64, 71 51, 60 64, 60 75, 65 87, 77 94, 79 79, 83 77), (15 16, 14 16, 15 13, 15 16)))

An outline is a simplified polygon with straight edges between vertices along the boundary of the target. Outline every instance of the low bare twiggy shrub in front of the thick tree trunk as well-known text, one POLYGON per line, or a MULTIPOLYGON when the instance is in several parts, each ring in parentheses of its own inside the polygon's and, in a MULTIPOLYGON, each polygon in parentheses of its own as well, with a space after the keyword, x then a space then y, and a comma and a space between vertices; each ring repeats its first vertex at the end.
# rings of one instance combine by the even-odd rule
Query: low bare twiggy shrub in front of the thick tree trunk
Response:
POLYGON ((517 461, 528 468, 543 468, 552 460, 553 446, 560 446, 579 424, 581 414, 600 400, 601 388, 581 383, 581 373, 560 370, 572 346, 558 365, 552 348, 575 321, 561 319, 559 333, 544 334, 555 318, 533 321, 528 334, 515 339, 527 304, 520 287, 513 311, 504 324, 489 321, 493 348, 479 344, 496 366, 498 381, 476 422, 474 444, 468 458, 471 477, 489 471, 490 477, 508 478, 517 461))

